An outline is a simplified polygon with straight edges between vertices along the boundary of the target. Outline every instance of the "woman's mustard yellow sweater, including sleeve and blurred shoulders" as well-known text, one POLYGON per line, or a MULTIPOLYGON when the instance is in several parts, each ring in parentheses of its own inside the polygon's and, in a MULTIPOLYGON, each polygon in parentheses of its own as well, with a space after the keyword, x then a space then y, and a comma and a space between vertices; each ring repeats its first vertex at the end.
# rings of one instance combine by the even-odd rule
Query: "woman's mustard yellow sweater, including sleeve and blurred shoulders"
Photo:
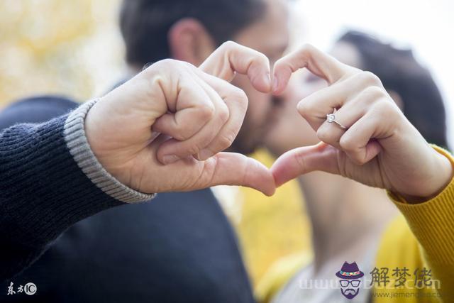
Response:
MULTIPOLYGON (((434 148, 454 167, 453 156, 434 148)), ((420 204, 408 204, 402 197, 388 194, 402 215, 387 226, 380 240, 375 268, 388 268, 390 282, 388 288, 374 284, 372 302, 454 302, 454 178, 437 197, 420 204), (397 276, 392 276, 395 268, 399 268, 401 274, 403 268, 408 269, 405 275, 408 287, 395 287, 397 276), (415 271, 419 287, 414 287, 415 271)), ((259 301, 270 302, 309 262, 307 254, 279 261, 260 281, 256 289, 259 301)))

